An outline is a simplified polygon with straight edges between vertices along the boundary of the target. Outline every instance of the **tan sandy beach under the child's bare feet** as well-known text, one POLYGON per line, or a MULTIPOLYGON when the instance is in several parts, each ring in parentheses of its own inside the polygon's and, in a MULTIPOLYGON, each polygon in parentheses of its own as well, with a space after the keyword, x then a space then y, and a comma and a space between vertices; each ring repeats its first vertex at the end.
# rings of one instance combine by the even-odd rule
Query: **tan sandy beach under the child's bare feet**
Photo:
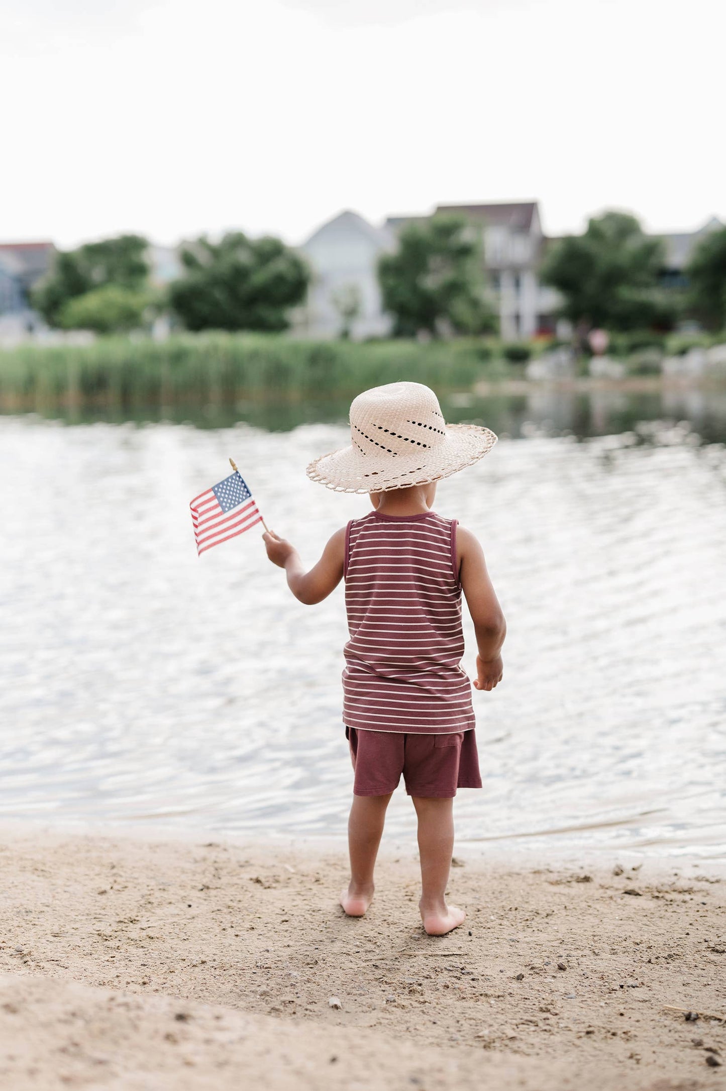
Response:
POLYGON ((724 1086, 717 870, 455 859, 434 939, 413 847, 350 920, 342 844, 5 830, 2 1088, 724 1086))

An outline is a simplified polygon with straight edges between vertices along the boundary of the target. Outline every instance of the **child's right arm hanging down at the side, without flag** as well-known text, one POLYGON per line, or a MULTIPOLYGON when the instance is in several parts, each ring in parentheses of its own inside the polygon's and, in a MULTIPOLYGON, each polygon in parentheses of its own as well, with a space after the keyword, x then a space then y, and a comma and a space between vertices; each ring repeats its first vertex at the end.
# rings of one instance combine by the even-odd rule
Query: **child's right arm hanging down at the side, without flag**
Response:
POLYGON ((476 690, 494 690, 501 681, 501 645, 507 623, 486 571, 484 551, 470 530, 457 528, 459 578, 476 633, 476 690))

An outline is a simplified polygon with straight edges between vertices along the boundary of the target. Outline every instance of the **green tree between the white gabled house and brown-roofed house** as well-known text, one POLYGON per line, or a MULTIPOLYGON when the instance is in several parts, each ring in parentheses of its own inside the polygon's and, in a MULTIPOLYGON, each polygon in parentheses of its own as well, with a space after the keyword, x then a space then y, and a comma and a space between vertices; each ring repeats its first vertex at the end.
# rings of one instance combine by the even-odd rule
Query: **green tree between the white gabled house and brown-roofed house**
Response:
POLYGON ((378 283, 397 337, 422 331, 437 336, 447 327, 469 334, 493 328, 481 247, 461 216, 434 216, 404 227, 398 250, 378 260, 378 283))

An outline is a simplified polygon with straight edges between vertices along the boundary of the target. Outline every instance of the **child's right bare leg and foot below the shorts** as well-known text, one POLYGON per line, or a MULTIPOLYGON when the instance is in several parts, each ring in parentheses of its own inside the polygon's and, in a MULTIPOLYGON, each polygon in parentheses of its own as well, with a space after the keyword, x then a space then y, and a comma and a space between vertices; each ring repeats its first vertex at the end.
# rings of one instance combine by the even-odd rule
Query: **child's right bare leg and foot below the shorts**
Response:
POLYGON ((446 904, 453 852, 453 800, 415 799, 421 855, 421 920, 429 936, 443 936, 457 928, 467 914, 446 904))

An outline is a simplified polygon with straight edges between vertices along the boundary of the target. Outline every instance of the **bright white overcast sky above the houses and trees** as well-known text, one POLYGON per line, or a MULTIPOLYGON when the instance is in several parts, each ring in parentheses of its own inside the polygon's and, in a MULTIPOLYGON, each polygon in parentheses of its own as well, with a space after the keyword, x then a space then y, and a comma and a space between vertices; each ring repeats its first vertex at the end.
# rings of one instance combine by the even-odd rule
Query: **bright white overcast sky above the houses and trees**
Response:
POLYGON ((3 0, 0 240, 726 219, 723 0, 3 0))

